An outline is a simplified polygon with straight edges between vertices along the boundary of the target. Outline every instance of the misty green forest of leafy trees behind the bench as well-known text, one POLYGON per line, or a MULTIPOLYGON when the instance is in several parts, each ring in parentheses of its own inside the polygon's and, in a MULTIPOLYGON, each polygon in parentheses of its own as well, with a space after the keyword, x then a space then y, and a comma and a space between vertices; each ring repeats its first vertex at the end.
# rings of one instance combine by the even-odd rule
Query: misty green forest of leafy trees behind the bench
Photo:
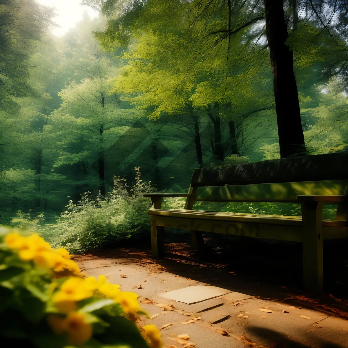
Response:
POLYGON ((286 157, 286 134, 302 136, 301 154, 347 148, 347 2, 278 7, 290 79, 277 105, 272 1, 82 3, 99 16, 59 38, 51 8, 0 0, 1 224, 90 250, 149 231, 142 194, 187 192, 193 168, 286 157))

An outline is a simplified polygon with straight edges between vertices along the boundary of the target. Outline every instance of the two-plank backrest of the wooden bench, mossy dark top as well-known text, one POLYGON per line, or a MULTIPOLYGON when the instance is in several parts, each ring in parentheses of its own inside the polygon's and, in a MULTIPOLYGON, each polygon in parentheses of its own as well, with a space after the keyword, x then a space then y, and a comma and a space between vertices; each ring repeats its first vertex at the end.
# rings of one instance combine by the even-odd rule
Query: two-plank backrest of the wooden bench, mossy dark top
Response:
POLYGON ((194 169, 195 201, 296 202, 298 195, 347 195, 348 152, 194 169))

